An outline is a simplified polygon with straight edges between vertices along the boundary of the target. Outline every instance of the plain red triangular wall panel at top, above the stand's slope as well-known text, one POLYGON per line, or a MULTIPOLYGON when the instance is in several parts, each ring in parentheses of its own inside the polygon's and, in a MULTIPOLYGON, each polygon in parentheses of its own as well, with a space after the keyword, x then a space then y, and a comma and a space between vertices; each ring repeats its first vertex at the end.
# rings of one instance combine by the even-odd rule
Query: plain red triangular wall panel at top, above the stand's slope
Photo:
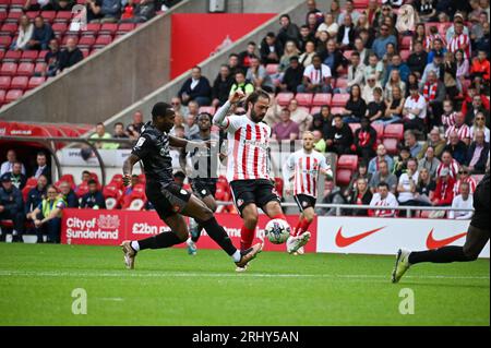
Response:
POLYGON ((207 59, 227 41, 236 41, 273 16, 274 13, 172 14, 170 77, 179 76, 207 59))

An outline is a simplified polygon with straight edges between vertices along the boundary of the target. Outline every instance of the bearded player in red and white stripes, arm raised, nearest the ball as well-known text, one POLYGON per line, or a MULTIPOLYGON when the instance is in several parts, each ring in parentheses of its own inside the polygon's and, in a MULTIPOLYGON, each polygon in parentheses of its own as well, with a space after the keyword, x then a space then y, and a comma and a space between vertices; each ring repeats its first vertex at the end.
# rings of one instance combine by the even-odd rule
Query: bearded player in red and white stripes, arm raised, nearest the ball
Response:
POLYGON ((271 128, 263 122, 270 107, 270 95, 264 91, 251 93, 244 101, 247 115, 227 117, 231 106, 243 97, 241 91, 233 93, 215 113, 213 122, 228 134, 227 180, 235 205, 244 220, 240 231, 240 244, 242 250, 247 250, 254 239, 258 207, 272 219, 286 220, 286 217, 270 178, 271 128))

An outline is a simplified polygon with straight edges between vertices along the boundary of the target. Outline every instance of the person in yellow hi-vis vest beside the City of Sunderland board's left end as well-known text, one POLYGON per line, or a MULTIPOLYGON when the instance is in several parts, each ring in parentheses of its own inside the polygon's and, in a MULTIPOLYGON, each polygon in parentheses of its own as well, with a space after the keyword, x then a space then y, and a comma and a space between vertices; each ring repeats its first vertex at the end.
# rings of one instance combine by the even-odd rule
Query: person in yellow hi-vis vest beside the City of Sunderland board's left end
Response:
POLYGON ((62 195, 55 187, 49 185, 47 196, 28 215, 36 227, 37 242, 43 243, 43 235, 47 235, 48 243, 59 243, 61 232, 61 212, 67 207, 62 195))

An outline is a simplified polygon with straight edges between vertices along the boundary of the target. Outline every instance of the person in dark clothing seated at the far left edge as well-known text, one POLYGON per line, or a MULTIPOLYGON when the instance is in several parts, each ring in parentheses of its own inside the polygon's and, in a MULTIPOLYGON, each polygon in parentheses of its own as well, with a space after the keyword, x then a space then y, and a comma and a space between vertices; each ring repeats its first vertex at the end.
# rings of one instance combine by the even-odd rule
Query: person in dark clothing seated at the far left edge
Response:
MULTIPOLYGON (((2 175, 0 181, 0 221, 12 220, 14 228, 12 241, 21 242, 25 221, 22 192, 12 184, 10 172, 2 175)), ((4 238, 4 233, 2 233, 2 238, 4 238)))

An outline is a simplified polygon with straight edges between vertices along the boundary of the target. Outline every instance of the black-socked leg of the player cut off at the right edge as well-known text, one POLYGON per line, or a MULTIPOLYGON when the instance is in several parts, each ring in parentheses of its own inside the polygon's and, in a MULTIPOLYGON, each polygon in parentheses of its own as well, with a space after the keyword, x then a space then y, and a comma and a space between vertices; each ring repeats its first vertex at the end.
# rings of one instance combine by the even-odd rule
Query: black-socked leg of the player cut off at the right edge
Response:
POLYGON ((410 266, 421 262, 451 263, 468 262, 478 259, 482 249, 489 241, 489 200, 490 188, 489 171, 479 182, 474 192, 474 216, 467 229, 467 237, 464 247, 443 247, 426 251, 397 252, 396 265, 392 273, 392 283, 398 283, 410 266))

